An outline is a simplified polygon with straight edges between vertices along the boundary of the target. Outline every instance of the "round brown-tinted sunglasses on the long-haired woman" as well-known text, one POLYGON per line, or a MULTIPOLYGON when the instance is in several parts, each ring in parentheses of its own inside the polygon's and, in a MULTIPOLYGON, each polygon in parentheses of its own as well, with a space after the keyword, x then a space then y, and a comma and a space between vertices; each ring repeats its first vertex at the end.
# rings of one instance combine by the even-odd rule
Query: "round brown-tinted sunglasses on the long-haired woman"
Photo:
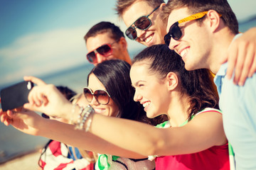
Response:
POLYGON ((93 93, 92 89, 85 87, 83 89, 83 94, 88 102, 92 101, 93 96, 95 96, 97 103, 102 105, 107 105, 110 102, 110 94, 108 94, 105 90, 96 90, 93 93))

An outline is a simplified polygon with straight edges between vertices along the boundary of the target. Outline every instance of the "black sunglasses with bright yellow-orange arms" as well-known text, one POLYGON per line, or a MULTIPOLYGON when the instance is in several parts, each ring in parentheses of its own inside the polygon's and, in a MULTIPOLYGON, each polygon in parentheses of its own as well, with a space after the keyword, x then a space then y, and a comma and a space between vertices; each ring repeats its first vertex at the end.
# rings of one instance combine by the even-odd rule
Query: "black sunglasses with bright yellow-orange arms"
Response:
MULTIPOLYGON (((206 14, 208 13, 208 11, 203 11, 203 12, 200 12, 200 13, 196 13, 196 14, 193 14, 192 16, 188 16, 186 18, 183 18, 179 21, 177 21, 176 23, 174 23, 171 28, 169 29, 169 33, 167 33, 165 36, 164 36, 164 42, 166 45, 170 45, 170 42, 171 42, 171 38, 174 38, 174 40, 179 40, 182 36, 182 32, 181 32, 181 28, 179 28, 178 24, 179 23, 183 23, 183 22, 186 22, 186 21, 192 21, 192 20, 196 20, 196 19, 199 19, 199 18, 203 18, 203 16, 206 16, 206 14)), ((219 14, 219 16, 221 16, 221 14, 219 14)))

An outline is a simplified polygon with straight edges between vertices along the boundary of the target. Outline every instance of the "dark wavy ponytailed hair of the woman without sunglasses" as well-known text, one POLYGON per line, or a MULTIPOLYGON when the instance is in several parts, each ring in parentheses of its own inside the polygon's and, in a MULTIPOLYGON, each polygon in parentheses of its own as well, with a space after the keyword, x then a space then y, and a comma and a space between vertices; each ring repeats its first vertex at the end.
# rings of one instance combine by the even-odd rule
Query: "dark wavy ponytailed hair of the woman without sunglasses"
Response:
POLYGON ((178 84, 181 84, 181 93, 190 96, 190 108, 188 108, 188 120, 193 114, 203 108, 219 108, 218 93, 213 84, 213 74, 208 69, 187 71, 181 57, 166 45, 153 45, 146 47, 133 59, 133 63, 149 61, 149 72, 157 74, 159 79, 164 79, 169 72, 175 72, 178 76, 178 84))

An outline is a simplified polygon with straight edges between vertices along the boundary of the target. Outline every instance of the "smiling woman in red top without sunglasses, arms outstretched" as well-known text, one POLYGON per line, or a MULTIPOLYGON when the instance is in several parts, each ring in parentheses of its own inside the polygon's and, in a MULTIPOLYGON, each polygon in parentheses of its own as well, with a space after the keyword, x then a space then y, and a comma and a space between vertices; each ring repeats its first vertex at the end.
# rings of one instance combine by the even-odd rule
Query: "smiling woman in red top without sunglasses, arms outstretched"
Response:
MULTIPOLYGON (((118 74, 118 77, 121 76, 118 74)), ((137 121, 92 113, 85 120, 85 130, 80 131, 74 130, 74 126, 60 123, 48 122, 42 125, 42 120, 31 112, 17 115, 11 111, 7 114, 1 112, 1 121, 6 125, 11 123, 31 135, 54 137, 83 149, 95 149, 97 152, 105 150, 105 153, 133 158, 157 155, 149 156, 151 160, 155 158, 156 169, 230 169, 228 141, 218 110, 218 96, 214 85, 209 83, 212 77, 206 69, 188 72, 181 57, 174 51, 166 45, 154 45, 134 58, 130 76, 132 86, 136 89, 134 100, 144 106, 147 117, 168 115, 169 121, 154 128, 137 121), (24 123, 31 130, 24 130, 23 124, 18 124, 21 118, 26 118, 24 123), (31 120, 36 123, 31 123, 31 120), (53 130, 48 132, 50 126, 53 126, 53 130), (100 142, 97 148, 90 143, 92 141, 100 142)), ((119 86, 122 85, 118 84, 116 91, 119 86)), ((104 90, 110 94, 109 89, 104 90)), ((93 100, 96 101, 95 98, 93 100)), ((43 101, 43 105, 35 106, 32 103, 27 104, 26 108, 48 111, 50 115, 56 115, 58 111, 58 115, 70 118, 69 113, 73 111, 73 106, 60 98, 49 85, 41 86, 30 101, 43 101)), ((79 113, 78 107, 75 113, 79 113)))

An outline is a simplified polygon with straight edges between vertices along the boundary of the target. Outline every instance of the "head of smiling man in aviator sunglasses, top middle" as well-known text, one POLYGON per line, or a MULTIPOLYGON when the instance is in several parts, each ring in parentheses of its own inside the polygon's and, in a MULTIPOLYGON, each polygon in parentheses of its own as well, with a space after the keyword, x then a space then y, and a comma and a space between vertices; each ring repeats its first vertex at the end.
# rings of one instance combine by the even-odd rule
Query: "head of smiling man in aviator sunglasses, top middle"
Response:
POLYGON ((125 34, 146 46, 164 44, 166 22, 161 18, 164 0, 118 0, 117 13, 127 30, 125 34))

